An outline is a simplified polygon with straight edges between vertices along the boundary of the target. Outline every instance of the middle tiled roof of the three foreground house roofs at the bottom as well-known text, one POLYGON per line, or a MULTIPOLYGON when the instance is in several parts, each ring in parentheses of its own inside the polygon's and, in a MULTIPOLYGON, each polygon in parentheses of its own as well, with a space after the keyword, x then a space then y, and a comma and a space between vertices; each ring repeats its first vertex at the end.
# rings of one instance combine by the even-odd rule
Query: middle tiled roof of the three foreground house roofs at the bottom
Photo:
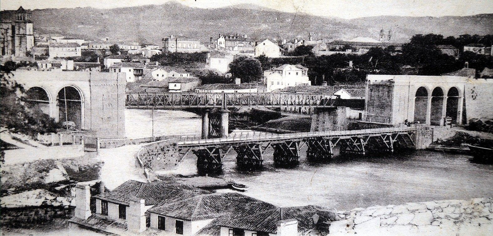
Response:
POLYGON ((163 202, 149 212, 185 220, 203 220, 229 215, 229 218, 251 215, 273 209, 274 205, 239 193, 200 195, 174 203, 163 202))

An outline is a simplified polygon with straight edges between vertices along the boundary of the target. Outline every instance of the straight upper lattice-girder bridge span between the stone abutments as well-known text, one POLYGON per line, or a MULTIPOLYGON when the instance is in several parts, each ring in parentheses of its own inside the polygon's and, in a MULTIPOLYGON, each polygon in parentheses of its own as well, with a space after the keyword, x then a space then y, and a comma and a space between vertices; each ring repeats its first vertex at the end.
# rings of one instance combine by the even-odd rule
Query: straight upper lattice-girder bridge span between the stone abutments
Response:
POLYGON ((334 107, 339 95, 313 93, 127 92, 127 108, 334 107))

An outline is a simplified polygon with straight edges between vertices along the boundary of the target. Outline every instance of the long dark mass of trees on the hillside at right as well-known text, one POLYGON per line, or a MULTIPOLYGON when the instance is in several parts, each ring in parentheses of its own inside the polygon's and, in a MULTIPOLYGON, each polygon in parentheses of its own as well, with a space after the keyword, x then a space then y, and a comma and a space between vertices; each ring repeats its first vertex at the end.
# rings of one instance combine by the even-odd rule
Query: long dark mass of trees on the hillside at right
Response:
MULTIPOLYGON (((321 85, 323 81, 329 84, 361 83, 367 74, 413 74, 413 75, 441 75, 457 71, 468 62, 469 68, 478 72, 485 67, 492 68, 491 56, 479 55, 472 52, 461 52, 462 47, 471 43, 490 45, 493 35, 469 35, 446 37, 436 34, 418 34, 411 41, 404 44, 402 50, 394 46, 386 49, 372 48, 366 54, 346 55, 333 54, 329 56, 314 56, 305 53, 304 56, 263 58, 257 59, 262 63, 262 69, 277 67, 282 64, 301 64, 307 68, 308 76, 313 85, 321 85), (436 45, 447 44, 459 48, 459 58, 443 54, 436 45), (352 61, 353 68, 349 68, 352 61)), ((350 47, 340 49, 345 51, 350 47)))

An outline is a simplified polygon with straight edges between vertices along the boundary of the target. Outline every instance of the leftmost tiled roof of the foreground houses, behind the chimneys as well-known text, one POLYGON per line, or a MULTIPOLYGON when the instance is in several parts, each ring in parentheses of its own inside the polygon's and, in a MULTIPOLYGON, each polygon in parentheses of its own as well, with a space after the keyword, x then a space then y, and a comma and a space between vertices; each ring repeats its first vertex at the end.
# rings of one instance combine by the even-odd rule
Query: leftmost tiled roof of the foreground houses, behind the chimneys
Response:
POLYGON ((144 183, 136 180, 128 180, 111 192, 105 192, 94 196, 97 199, 129 205, 131 197, 145 199, 145 205, 155 205, 161 202, 175 202, 200 194, 209 193, 184 184, 170 185, 169 182, 157 181, 144 183))

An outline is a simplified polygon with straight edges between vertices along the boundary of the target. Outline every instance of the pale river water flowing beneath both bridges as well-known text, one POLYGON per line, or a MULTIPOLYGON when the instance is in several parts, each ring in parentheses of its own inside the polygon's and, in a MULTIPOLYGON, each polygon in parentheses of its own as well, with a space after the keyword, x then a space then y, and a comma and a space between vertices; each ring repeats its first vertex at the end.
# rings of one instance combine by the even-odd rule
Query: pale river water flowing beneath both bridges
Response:
MULTIPOLYGON (((150 136, 151 113, 127 109, 127 136, 150 136)), ((200 125, 200 117, 193 113, 154 111, 155 135, 200 134, 200 125)), ((248 186, 244 194, 286 207, 314 204, 349 210, 493 196, 493 166, 471 163, 467 155, 420 150, 389 156, 337 157, 330 163, 311 164, 306 160, 306 147, 300 154, 297 167, 275 168, 269 149, 264 153, 262 171, 244 172, 236 169, 236 153, 231 151, 223 160, 223 173, 217 177, 244 183, 248 186)), ((190 153, 169 174, 196 175, 196 161, 190 153)))

